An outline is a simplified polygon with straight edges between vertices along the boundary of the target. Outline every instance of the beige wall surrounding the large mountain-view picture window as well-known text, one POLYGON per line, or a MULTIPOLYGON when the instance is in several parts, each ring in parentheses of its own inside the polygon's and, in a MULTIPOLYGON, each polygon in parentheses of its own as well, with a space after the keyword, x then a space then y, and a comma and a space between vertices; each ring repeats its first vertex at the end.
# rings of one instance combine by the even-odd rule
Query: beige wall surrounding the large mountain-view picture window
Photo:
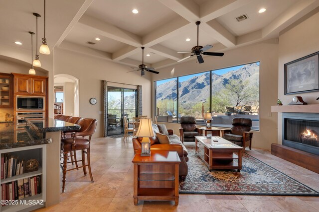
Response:
MULTIPOLYGON (((212 49, 213 51, 213 49, 212 49)), ((253 147, 270 149, 271 143, 277 142, 277 114, 271 113, 271 105, 277 103, 278 91, 278 43, 277 39, 236 48, 225 52, 223 57, 203 57, 205 63, 196 60, 176 64, 160 69, 152 80, 171 78, 191 73, 222 69, 241 64, 260 61, 260 131, 254 132, 253 147), (174 69, 174 74, 171 72, 174 69)), ((178 133, 180 124, 164 123, 178 133)))

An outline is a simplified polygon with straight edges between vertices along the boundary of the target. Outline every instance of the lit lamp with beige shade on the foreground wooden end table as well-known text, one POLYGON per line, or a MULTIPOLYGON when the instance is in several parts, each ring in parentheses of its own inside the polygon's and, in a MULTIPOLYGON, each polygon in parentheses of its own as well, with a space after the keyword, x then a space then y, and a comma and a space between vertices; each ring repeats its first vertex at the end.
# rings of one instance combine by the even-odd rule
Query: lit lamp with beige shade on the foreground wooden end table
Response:
POLYGON ((143 137, 141 156, 151 155, 150 138, 154 137, 154 131, 152 128, 152 119, 151 118, 141 119, 138 132, 136 133, 135 136, 136 137, 143 137))

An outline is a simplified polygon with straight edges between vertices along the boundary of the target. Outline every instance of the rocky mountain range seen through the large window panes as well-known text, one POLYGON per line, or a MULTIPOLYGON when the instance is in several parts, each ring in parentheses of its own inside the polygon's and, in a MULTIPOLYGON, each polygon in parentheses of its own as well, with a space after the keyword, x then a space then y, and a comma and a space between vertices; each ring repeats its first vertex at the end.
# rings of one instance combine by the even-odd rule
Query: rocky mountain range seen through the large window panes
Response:
MULTIPOLYGON (((222 75, 212 72, 212 94, 224 88, 229 80, 248 80, 249 85, 259 86, 259 65, 247 64, 238 70, 228 71, 222 75)), ((157 101, 164 99, 176 100, 176 80, 171 80, 157 86, 157 101)), ((207 102, 209 98, 209 72, 194 76, 178 83, 180 103, 207 102)))

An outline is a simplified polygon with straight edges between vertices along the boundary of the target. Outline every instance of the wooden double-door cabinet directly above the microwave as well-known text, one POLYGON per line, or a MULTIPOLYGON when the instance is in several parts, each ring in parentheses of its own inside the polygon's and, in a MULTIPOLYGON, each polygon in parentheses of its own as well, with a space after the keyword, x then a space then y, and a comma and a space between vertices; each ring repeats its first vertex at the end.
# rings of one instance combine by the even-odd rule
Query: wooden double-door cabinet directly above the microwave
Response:
POLYGON ((30 76, 27 74, 13 73, 14 94, 44 96, 46 94, 46 76, 30 76))

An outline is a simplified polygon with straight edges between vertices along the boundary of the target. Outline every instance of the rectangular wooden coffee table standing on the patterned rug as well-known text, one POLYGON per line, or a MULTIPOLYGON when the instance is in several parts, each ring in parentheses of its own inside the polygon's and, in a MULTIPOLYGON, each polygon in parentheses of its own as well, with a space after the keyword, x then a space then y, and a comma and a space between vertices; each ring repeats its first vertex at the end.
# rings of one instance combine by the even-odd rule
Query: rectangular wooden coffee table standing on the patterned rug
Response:
POLYGON ((210 169, 237 169, 242 168, 243 147, 238 146, 221 137, 195 136, 196 154, 210 169), (235 154, 237 152, 237 154, 235 154), (238 159, 238 162, 234 159, 238 159))

